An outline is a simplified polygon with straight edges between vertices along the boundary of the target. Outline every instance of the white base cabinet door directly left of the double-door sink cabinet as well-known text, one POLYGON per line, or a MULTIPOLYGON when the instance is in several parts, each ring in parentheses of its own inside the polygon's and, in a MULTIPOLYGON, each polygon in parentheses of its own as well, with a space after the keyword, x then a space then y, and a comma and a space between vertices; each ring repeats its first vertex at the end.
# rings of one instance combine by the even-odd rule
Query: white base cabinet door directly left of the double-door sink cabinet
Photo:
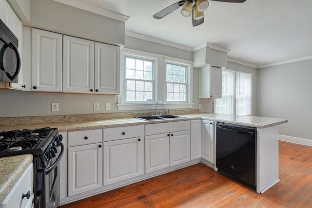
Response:
POLYGON ((144 174, 144 139, 104 142, 104 186, 144 174))

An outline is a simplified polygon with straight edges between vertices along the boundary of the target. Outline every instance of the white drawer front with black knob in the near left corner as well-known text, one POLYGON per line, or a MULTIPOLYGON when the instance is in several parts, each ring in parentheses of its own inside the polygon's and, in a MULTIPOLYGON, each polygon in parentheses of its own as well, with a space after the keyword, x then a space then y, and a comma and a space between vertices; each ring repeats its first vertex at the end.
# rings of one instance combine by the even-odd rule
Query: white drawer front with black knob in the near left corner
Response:
POLYGON ((34 178, 34 166, 31 163, 15 186, 11 189, 7 197, 0 204, 0 208, 25 208, 33 200, 33 178, 34 178), (22 194, 26 194, 30 191, 31 195, 22 198, 22 194))

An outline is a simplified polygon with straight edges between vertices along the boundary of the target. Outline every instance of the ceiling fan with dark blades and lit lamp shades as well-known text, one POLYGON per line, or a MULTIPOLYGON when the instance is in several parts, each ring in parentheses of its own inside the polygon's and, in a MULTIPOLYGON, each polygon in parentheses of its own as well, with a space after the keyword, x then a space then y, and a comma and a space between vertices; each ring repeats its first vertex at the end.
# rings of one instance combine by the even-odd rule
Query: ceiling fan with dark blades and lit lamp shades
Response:
MULTIPOLYGON (((215 1, 243 3, 246 0, 215 0, 215 1)), ((178 9, 180 6, 183 6, 181 9, 181 15, 183 15, 184 17, 190 17, 192 15, 192 23, 194 27, 204 23, 204 11, 209 6, 208 0, 179 0, 178 2, 157 12, 155 15, 153 15, 153 18, 161 19, 163 17, 166 17, 170 13, 176 11, 176 9, 178 9)))

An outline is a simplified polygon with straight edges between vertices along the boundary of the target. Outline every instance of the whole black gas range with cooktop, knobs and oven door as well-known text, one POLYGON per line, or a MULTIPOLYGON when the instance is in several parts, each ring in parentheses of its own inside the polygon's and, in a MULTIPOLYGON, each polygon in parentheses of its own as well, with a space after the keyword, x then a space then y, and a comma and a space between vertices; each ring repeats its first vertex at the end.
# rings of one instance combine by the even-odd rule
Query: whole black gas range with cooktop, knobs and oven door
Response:
POLYGON ((0 132, 0 157, 32 154, 34 208, 59 206, 59 161, 64 152, 57 128, 0 132))

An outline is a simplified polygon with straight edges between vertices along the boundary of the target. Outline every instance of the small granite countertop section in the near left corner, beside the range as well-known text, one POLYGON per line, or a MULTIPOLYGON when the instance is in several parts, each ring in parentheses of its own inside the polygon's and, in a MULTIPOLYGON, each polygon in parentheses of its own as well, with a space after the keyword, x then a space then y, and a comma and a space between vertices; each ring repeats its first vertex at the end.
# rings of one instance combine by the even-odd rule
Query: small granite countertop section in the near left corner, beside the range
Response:
POLYGON ((2 201, 33 162, 32 154, 0 158, 0 201, 2 201))

